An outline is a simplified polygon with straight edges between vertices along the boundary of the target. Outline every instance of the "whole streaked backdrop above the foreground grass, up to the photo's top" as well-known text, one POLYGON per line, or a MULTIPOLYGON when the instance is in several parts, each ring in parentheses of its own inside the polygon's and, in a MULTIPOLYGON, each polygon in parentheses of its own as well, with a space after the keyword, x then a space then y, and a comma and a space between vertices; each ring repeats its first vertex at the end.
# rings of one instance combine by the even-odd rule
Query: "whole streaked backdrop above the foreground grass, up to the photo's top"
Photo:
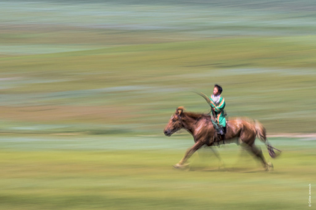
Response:
POLYGON ((3 132, 161 133, 178 106, 313 132, 314 1, 3 1, 3 132))

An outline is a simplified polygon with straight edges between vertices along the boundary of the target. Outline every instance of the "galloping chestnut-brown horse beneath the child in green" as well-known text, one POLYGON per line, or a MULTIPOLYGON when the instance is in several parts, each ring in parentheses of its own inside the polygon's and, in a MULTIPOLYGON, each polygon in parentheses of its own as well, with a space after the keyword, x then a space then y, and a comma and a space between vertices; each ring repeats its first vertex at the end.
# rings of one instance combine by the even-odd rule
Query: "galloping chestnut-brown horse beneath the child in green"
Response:
MULTIPOLYGON (((170 118, 166 128, 164 129, 164 134, 166 136, 171 136, 176 131, 184 128, 194 138, 195 144, 189 148, 184 157, 174 165, 175 168, 184 168, 188 164, 185 162, 193 155, 197 149, 201 148, 203 145, 214 146, 222 144, 223 141, 215 143, 213 140, 215 129, 208 114, 197 114, 190 112, 183 112, 183 107, 178 107, 175 114, 170 118)), ((266 162, 262 150, 255 146, 254 142, 256 137, 258 137, 265 145, 269 151, 269 155, 272 158, 276 157, 276 154, 266 138, 265 128, 258 121, 253 123, 247 120, 229 120, 226 125, 227 133, 225 136, 225 143, 237 143, 246 145, 252 154, 254 154, 259 160, 262 161, 262 164, 266 170, 269 170, 272 166, 270 162, 266 162)), ((276 149, 278 150, 278 149, 276 149)), ((280 151, 280 150, 278 150, 280 151)))

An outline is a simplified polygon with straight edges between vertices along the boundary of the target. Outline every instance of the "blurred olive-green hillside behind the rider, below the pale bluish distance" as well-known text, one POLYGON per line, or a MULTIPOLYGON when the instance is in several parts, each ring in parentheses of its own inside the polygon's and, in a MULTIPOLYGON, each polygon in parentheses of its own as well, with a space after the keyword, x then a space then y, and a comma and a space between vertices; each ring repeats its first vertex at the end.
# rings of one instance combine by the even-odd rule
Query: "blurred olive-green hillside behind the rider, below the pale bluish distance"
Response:
POLYGON ((160 133, 178 106, 208 112, 191 91, 210 94, 214 83, 224 87, 230 117, 258 119, 268 132, 314 132, 316 51, 313 37, 296 40, 222 38, 2 58, 1 104, 12 111, 3 132, 14 132, 4 127, 21 114, 21 124, 59 124, 61 132, 103 124, 160 133))

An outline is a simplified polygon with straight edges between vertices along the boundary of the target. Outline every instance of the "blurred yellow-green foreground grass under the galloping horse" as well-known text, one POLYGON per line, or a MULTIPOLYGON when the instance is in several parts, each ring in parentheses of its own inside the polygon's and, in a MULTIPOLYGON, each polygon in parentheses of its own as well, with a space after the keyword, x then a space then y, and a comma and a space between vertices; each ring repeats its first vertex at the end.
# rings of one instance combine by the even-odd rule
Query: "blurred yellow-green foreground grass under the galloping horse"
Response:
POLYGON ((2 137, 0 207, 307 208, 308 184, 313 186, 315 182, 315 169, 311 167, 315 164, 314 141, 270 139, 275 147, 283 150, 282 155, 273 160, 259 144, 265 157, 274 164, 272 172, 265 172, 236 145, 218 149, 225 168, 218 169, 215 155, 204 148, 199 155, 192 156, 191 171, 181 171, 172 165, 182 158, 193 141, 176 137, 177 134, 171 138, 2 137), (109 141, 111 138, 115 141, 109 141), (106 149, 106 146, 109 147, 106 149))

